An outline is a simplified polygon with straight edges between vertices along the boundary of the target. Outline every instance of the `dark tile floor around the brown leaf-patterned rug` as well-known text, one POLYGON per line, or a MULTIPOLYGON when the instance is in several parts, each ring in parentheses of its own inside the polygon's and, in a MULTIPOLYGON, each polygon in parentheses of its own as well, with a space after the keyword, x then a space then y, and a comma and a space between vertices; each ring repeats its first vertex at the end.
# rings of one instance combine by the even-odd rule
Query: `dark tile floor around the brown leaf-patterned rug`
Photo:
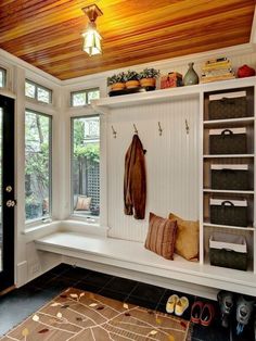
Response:
MULTIPOLYGON (((182 317, 188 320, 193 302, 206 301, 182 292, 61 264, 26 286, 0 296, 0 336, 68 287, 97 292, 121 302, 164 313, 166 301, 171 294, 185 295, 190 301, 190 306, 182 317)), ((255 341, 253 319, 245 327, 243 334, 236 337, 235 314, 232 317, 231 330, 225 329, 220 326, 218 305, 216 302, 212 303, 216 307, 214 324, 210 327, 192 326, 192 341, 255 341)))

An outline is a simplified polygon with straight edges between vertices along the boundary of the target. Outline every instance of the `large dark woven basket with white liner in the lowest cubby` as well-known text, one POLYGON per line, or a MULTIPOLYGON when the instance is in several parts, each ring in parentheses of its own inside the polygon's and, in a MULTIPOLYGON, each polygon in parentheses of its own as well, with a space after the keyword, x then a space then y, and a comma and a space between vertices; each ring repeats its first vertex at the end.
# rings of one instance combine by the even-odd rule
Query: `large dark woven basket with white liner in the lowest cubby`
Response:
POLYGON ((213 233, 209 237, 210 265, 247 269, 247 245, 243 236, 213 233))

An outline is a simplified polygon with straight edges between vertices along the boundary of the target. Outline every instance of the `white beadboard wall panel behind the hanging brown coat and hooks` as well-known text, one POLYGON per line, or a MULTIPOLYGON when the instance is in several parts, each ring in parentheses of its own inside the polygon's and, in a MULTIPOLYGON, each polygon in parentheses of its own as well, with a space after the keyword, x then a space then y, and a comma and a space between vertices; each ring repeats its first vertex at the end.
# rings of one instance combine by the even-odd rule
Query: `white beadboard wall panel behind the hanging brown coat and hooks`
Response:
POLYGON ((144 241, 149 212, 163 217, 174 212, 188 219, 199 218, 199 100, 191 98, 112 111, 107 123, 110 237, 144 241), (143 220, 124 214, 125 154, 133 136, 133 123, 146 150, 148 192, 143 220), (112 125, 117 131, 116 139, 112 125))

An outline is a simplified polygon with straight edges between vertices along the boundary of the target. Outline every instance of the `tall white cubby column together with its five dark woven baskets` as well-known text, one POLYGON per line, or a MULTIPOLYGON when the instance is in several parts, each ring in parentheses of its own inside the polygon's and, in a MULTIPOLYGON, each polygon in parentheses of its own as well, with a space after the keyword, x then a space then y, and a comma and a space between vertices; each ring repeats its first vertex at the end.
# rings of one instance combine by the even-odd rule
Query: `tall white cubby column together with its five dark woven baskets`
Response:
POLYGON ((254 270, 254 88, 205 92, 202 162, 205 264, 254 270), (231 250, 225 250, 226 245, 231 250), (246 256, 240 252, 244 249, 246 256), (241 265, 232 264, 232 255, 241 265))

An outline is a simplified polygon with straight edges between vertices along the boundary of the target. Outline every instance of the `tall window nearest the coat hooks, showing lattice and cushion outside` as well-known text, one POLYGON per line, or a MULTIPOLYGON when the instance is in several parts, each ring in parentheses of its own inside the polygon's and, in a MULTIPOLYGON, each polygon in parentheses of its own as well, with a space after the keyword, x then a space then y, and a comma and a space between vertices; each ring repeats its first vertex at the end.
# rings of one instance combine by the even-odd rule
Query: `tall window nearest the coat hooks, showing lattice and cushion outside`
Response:
POLYGON ((72 212, 100 215, 100 117, 72 118, 72 212))

